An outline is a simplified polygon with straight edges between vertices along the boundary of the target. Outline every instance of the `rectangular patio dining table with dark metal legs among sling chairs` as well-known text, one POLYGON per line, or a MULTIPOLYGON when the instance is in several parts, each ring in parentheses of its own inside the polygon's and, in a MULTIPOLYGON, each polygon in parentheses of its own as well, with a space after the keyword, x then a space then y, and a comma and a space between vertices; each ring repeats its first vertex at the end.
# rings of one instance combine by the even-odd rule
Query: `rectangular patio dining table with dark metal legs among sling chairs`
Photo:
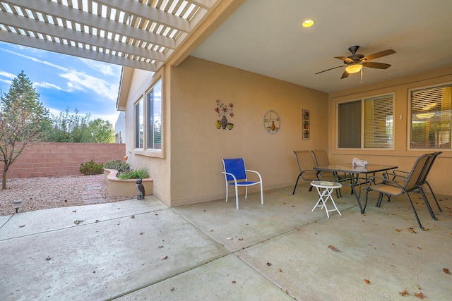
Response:
POLYGON ((367 197, 364 202, 364 207, 361 204, 361 185, 369 183, 369 174, 375 176, 375 173, 389 171, 391 169, 396 169, 398 166, 395 165, 381 165, 381 164, 368 164, 367 166, 353 166, 351 163, 345 164, 330 164, 325 166, 316 166, 314 169, 316 171, 331 171, 334 175, 335 182, 342 185, 347 185, 352 188, 352 194, 359 205, 359 210, 361 214, 364 214, 367 205, 367 197), (339 174, 344 173, 345 175, 350 174, 348 177, 340 178, 339 174), (358 192, 357 192, 358 187, 358 192))

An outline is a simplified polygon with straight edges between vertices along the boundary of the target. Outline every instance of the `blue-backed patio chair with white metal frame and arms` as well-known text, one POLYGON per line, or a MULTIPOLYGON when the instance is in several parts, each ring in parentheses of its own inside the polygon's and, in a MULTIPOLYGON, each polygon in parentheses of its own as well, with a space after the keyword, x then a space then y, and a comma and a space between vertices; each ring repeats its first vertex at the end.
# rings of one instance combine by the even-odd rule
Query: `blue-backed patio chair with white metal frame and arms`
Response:
POLYGON ((235 202, 237 204, 237 209, 239 209, 239 187, 244 187, 245 190, 245 199, 248 197, 248 186, 252 185, 261 185, 261 204, 263 204, 263 190, 262 190, 262 177, 261 174, 257 171, 250 171, 249 169, 245 168, 245 162, 243 158, 235 158, 235 159, 222 159, 223 161, 223 167, 225 168, 225 171, 222 173, 225 174, 225 181, 226 181, 226 202, 227 202, 227 196, 228 196, 228 188, 229 186, 234 186, 235 188, 235 202), (256 173, 256 175, 259 177, 259 180, 257 182, 249 181, 246 178, 246 172, 250 173, 256 173))

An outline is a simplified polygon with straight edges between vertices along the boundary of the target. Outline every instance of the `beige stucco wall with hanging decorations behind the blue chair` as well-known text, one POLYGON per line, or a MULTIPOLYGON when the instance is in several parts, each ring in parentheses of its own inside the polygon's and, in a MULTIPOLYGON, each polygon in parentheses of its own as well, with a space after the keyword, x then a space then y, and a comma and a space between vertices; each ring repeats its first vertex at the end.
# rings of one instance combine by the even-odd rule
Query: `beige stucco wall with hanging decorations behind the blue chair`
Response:
POLYGON ((269 190, 295 184, 293 150, 328 148, 326 93, 194 57, 171 69, 170 85, 172 206, 225 197, 222 158, 243 157, 269 190), (215 127, 217 99, 234 104, 232 130, 215 127), (302 140, 302 109, 311 113, 311 140, 302 140), (276 135, 263 128, 269 110, 281 118, 276 135))

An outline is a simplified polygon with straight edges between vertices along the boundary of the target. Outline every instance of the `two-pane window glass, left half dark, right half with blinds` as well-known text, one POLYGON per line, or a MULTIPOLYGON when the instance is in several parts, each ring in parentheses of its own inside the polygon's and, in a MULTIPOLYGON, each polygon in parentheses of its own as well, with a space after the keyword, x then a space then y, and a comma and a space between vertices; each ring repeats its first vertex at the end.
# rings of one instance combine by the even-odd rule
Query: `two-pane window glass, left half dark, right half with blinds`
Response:
POLYGON ((338 104, 338 148, 393 148, 393 99, 388 94, 338 104))

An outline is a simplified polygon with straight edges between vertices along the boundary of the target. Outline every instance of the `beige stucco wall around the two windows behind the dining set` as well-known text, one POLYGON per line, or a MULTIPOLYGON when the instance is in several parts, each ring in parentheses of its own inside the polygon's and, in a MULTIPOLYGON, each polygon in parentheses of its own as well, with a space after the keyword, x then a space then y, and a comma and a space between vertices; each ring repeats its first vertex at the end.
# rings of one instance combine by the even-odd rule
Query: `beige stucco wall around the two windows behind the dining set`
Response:
MULTIPOLYGON (((353 78, 347 78, 353 80, 353 78)), ((365 80, 365 76, 364 76, 365 80)), ((375 164, 394 164, 404 171, 410 171, 417 156, 427 152, 435 152, 435 149, 411 150, 410 142, 410 102, 408 91, 413 88, 428 87, 452 82, 452 66, 431 70, 416 75, 396 80, 388 80, 376 85, 363 85, 357 89, 331 93, 329 95, 329 155, 332 162, 351 162, 352 158, 367 159, 375 164), (357 150, 338 149, 336 133, 336 109, 338 102, 360 99, 362 97, 379 94, 395 93, 396 106, 394 111, 394 149, 357 150), (400 119, 400 115, 402 118, 400 119)), ((432 185, 435 193, 452 195, 452 151, 440 149, 444 153, 436 159, 427 180, 432 185)))

